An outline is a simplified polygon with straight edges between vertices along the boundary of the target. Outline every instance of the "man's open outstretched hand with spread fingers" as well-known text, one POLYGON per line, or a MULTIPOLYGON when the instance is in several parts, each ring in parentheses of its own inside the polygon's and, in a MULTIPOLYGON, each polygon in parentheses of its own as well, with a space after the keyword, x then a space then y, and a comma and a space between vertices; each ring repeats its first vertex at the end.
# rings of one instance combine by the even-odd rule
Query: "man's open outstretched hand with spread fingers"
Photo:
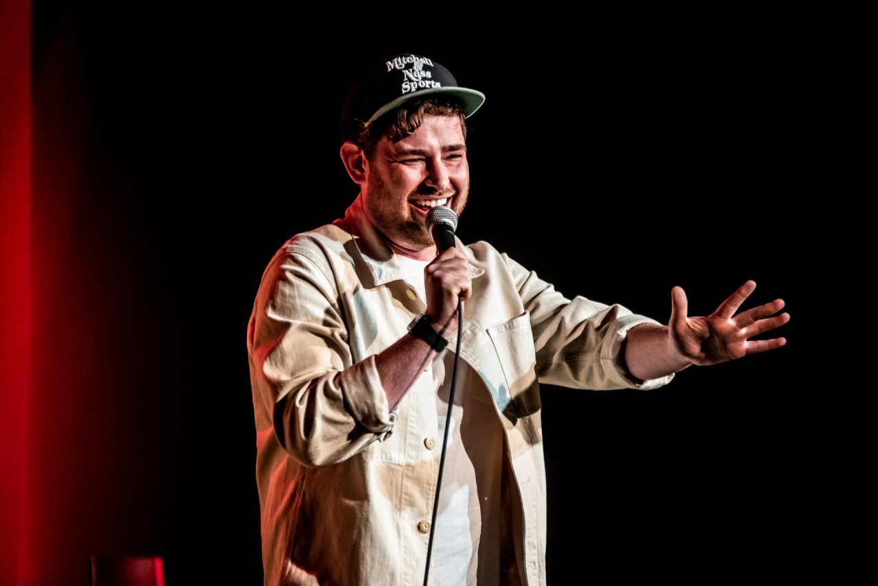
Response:
POLYGON ((783 300, 776 299, 735 315, 755 288, 755 282, 747 281, 712 314, 689 317, 686 293, 682 287, 675 286, 671 291, 668 330, 676 350, 695 365, 715 365, 787 344, 783 337, 750 339, 789 321, 788 313, 774 315, 783 308, 783 300))

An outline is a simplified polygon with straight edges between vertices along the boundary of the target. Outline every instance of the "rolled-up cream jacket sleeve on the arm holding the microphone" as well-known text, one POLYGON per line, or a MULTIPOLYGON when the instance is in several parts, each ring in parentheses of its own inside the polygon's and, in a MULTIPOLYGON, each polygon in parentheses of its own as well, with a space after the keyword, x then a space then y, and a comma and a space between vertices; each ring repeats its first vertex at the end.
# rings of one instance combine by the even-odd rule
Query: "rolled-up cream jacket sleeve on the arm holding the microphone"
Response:
MULTIPOLYGON (((335 281, 318 255, 272 259, 248 326, 257 428, 310 467, 332 464, 392 428, 375 358, 352 364, 335 281)), ((259 430, 257 429, 257 432, 259 430)))

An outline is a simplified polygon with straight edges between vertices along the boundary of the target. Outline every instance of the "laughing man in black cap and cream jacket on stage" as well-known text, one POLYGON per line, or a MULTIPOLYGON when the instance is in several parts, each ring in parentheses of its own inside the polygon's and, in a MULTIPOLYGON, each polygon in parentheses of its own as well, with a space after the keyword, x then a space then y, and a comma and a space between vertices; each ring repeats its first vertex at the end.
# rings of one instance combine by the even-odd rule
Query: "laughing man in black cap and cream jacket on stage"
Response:
POLYGON ((486 242, 437 250, 425 220, 464 211, 484 99, 421 55, 363 69, 340 151, 359 195, 264 273, 248 352, 266 584, 542 584, 539 382, 649 389, 784 344, 749 339, 788 321, 781 300, 736 315, 751 281, 707 317, 675 287, 663 326, 565 298, 486 242))

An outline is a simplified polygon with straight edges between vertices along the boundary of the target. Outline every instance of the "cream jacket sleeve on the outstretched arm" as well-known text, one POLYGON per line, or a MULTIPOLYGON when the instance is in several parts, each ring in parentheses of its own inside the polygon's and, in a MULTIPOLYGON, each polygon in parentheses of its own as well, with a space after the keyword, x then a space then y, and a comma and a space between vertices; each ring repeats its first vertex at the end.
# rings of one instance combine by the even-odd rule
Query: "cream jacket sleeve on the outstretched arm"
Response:
POLYGON ((530 315, 536 374, 541 382, 594 390, 651 389, 673 379, 672 374, 637 380, 625 366, 623 350, 628 331, 641 323, 659 322, 618 304, 606 305, 581 296, 566 299, 536 272, 509 257, 506 262, 530 315))

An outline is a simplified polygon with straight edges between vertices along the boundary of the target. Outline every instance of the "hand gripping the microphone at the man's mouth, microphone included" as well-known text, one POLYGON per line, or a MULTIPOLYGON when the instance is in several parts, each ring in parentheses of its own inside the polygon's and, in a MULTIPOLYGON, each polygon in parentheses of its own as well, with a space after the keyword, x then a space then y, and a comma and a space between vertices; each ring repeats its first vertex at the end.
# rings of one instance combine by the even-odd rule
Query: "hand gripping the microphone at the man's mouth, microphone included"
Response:
POLYGON ((424 312, 442 336, 457 329, 457 301, 472 294, 470 263, 455 247, 457 214, 450 207, 435 206, 427 213, 424 226, 433 235, 437 255, 424 269, 427 311, 424 312))

